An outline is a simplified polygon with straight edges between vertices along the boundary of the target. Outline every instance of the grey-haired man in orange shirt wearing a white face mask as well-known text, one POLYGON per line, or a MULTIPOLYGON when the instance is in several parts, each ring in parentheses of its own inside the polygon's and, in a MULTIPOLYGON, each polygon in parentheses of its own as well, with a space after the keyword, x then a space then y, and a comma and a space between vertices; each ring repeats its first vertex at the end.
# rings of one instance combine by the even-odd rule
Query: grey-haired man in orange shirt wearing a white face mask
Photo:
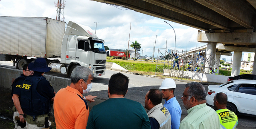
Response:
POLYGON ((89 116, 86 100, 93 102, 96 96, 88 95, 87 86, 92 85, 93 72, 84 66, 77 66, 71 73, 71 84, 55 95, 53 108, 57 129, 85 129, 89 116))

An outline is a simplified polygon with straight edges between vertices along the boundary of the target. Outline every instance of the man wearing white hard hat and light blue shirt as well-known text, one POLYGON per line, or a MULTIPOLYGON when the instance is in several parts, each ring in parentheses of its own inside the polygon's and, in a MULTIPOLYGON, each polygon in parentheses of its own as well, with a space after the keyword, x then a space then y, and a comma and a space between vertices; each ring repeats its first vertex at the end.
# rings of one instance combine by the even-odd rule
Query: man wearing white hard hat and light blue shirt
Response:
POLYGON ((165 99, 164 107, 166 107, 171 114, 172 129, 179 129, 181 108, 180 104, 174 96, 174 90, 176 88, 175 81, 172 78, 166 78, 163 80, 159 89, 162 89, 163 99, 165 99))

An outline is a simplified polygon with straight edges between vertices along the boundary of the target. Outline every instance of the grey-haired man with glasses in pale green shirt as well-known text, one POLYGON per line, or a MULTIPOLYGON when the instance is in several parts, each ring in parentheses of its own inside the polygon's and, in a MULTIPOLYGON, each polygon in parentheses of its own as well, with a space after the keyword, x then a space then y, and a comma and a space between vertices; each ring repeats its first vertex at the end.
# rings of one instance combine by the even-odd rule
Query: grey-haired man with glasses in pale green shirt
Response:
POLYGON ((206 105, 204 86, 187 83, 181 99, 188 115, 181 121, 180 129, 222 129, 218 114, 206 105))

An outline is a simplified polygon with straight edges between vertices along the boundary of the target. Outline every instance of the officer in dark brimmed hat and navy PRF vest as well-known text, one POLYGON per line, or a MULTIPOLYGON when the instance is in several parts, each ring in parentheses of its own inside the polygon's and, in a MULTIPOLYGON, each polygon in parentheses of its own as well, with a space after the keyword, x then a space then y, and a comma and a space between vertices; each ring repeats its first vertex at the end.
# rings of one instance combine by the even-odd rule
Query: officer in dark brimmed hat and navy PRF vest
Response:
POLYGON ((55 92, 43 76, 44 72, 49 72, 51 69, 47 67, 44 58, 37 58, 34 63, 29 64, 29 70, 33 70, 34 74, 23 81, 20 95, 20 105, 26 114, 27 129, 42 129, 51 125, 48 113, 51 110, 55 92))

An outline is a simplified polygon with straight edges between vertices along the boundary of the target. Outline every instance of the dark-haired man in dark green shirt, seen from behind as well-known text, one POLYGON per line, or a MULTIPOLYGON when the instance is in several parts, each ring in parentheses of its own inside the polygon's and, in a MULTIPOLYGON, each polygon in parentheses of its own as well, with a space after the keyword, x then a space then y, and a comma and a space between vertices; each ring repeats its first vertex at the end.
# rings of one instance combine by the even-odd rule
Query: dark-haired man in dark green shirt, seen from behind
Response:
POLYGON ((108 83, 108 100, 93 106, 86 129, 151 129, 143 106, 128 100, 129 79, 122 73, 113 74, 108 83))

